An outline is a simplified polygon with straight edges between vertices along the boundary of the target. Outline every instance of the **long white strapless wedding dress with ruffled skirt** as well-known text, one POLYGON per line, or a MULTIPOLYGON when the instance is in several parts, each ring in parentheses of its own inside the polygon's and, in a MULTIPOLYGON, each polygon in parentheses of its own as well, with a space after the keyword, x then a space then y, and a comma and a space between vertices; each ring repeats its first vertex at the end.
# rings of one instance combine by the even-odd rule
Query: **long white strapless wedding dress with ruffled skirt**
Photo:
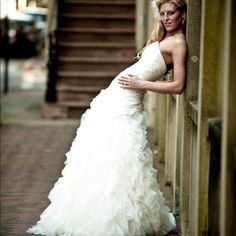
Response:
POLYGON ((50 205, 27 233, 47 236, 147 236, 175 229, 164 205, 146 137, 144 92, 120 88, 136 74, 154 81, 166 65, 158 42, 93 99, 50 191, 50 205))

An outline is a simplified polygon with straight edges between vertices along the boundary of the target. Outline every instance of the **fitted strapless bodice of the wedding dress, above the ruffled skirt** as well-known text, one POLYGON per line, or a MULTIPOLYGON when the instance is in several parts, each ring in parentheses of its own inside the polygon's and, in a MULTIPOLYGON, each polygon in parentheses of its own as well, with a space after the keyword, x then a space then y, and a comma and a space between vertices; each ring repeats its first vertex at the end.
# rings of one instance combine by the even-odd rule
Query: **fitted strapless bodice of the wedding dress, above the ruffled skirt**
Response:
MULTIPOLYGON (((159 48, 159 42, 149 44, 139 61, 119 73, 110 86, 101 91, 90 104, 100 104, 104 109, 109 107, 110 114, 133 114, 143 110, 145 91, 123 89, 117 80, 121 75, 134 74, 142 80, 156 81, 166 72, 166 64, 159 48)), ((99 109, 102 109, 101 107, 99 109)))

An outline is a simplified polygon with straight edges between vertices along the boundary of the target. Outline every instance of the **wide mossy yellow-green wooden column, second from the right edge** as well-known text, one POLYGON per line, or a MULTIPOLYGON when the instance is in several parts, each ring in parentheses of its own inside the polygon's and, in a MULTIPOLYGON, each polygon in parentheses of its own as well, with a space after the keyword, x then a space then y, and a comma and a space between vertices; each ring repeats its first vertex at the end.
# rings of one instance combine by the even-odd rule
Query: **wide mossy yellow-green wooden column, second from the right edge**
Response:
POLYGON ((209 118, 221 115, 221 69, 223 52, 224 2, 205 0, 202 4, 201 66, 199 84, 199 113, 197 140, 197 231, 193 235, 206 235, 208 231, 210 143, 209 118))

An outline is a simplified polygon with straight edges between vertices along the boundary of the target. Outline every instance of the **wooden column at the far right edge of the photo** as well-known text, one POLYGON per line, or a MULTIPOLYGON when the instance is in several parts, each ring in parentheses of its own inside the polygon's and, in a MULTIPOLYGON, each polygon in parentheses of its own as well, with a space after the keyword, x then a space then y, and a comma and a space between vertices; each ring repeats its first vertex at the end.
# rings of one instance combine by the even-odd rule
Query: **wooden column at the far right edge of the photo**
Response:
POLYGON ((236 235, 236 2, 225 6, 220 236, 236 235))

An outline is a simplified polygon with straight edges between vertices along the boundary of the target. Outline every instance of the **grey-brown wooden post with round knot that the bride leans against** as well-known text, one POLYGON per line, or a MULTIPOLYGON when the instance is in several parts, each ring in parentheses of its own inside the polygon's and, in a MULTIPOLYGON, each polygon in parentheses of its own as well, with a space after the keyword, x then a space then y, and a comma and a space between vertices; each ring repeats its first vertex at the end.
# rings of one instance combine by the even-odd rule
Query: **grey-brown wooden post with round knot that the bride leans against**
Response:
POLYGON ((196 221, 196 170, 197 116, 198 116, 198 80, 201 35, 201 1, 189 0, 187 11, 187 75, 186 87, 181 103, 182 146, 180 160, 180 228, 182 236, 194 236, 189 233, 189 224, 196 221), (193 181, 191 184, 190 181, 193 181), (190 221, 190 222, 189 222, 190 221))

